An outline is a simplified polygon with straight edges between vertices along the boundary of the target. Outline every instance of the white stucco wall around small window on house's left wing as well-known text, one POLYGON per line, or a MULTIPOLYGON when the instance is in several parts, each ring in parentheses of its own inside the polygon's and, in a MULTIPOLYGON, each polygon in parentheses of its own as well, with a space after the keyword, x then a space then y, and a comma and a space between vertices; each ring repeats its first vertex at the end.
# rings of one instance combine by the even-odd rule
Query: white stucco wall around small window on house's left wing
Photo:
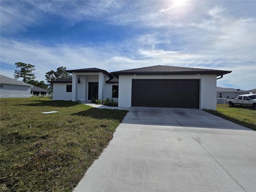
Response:
POLYGON ((72 92, 66 92, 66 85, 72 85, 72 83, 53 84, 53 100, 69 101, 72 99, 72 92))

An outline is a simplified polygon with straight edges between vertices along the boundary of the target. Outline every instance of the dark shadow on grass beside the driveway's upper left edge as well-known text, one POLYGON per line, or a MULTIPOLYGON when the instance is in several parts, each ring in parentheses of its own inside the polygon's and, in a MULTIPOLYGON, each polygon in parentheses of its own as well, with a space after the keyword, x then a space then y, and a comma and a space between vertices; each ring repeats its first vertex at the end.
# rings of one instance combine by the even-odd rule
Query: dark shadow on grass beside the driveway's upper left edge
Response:
POLYGON ((98 119, 116 119, 121 122, 124 116, 127 114, 127 112, 128 111, 126 110, 117 110, 117 109, 90 108, 88 110, 84 110, 71 115, 89 116, 89 117, 98 118, 98 119))

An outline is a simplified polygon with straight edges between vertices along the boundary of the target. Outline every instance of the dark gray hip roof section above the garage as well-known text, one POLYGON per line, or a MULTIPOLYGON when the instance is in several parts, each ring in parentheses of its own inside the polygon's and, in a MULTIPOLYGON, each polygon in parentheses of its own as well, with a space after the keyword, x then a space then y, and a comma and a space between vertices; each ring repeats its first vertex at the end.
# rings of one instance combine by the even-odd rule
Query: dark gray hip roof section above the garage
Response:
POLYGON ((164 66, 156 65, 150 67, 142 67, 136 69, 122 70, 112 72, 114 76, 119 75, 197 75, 197 74, 211 74, 211 75, 224 75, 231 73, 232 71, 212 70, 212 69, 201 69, 201 68, 189 68, 189 67, 176 67, 176 66, 164 66))

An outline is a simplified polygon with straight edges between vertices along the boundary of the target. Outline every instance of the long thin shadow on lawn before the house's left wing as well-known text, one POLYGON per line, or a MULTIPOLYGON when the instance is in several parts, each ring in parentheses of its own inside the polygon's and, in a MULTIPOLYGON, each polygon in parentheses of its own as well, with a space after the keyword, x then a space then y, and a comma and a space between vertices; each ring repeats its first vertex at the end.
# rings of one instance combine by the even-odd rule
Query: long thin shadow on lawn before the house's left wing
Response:
POLYGON ((52 100, 52 101, 33 101, 33 103, 25 102, 24 104, 17 104, 16 106, 52 106, 52 107, 72 107, 76 105, 80 105, 80 102, 74 101, 62 101, 62 100, 52 100))

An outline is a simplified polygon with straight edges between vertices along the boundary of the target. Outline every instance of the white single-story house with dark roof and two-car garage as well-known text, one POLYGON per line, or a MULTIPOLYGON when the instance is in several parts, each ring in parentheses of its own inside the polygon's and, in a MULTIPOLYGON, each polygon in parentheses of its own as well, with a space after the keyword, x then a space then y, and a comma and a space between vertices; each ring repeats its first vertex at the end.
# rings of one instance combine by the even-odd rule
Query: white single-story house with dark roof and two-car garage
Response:
POLYGON ((67 72, 72 73, 72 78, 50 81, 53 100, 113 97, 120 107, 215 110, 216 80, 232 71, 157 65, 112 73, 98 68, 67 72))

